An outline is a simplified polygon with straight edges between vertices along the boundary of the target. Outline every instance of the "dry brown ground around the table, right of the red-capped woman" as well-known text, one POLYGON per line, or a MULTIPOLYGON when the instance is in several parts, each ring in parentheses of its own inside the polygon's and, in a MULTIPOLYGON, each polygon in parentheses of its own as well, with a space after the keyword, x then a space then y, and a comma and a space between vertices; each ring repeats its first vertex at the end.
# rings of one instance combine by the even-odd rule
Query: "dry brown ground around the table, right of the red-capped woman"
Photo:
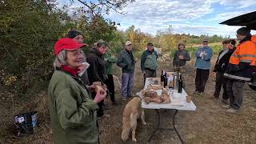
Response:
MULTIPOLYGON (((215 62, 214 60, 212 62, 215 62)), ((250 90, 248 84, 244 88, 244 102, 239 114, 227 114, 222 108, 221 98, 217 102, 211 99, 214 94, 214 78, 210 77, 206 84, 204 95, 194 95, 194 62, 186 67, 186 92, 192 96, 196 111, 179 111, 176 118, 176 127, 185 143, 255 143, 256 142, 256 94, 250 90)), ((140 64, 136 64, 134 92, 143 87, 143 78, 140 64)), ((170 62, 159 62, 158 76, 161 70, 172 71, 170 62)), ((134 93, 135 94, 135 93, 134 93)), ((121 98, 120 94, 116 95, 121 98)), ((120 99, 120 102, 121 99, 120 99)), ((125 102, 126 103, 126 102, 125 102)), ((101 142, 104 144, 124 143, 121 140, 122 110, 120 106, 108 105, 111 118, 100 119, 101 142)), ((161 110, 162 127, 171 127, 173 110, 161 110)), ((147 142, 150 134, 157 126, 157 114, 154 110, 145 110, 146 126, 138 122, 136 131, 137 143, 181 143, 174 131, 160 131, 155 134, 151 142, 147 142)), ((135 143, 131 138, 127 144, 135 143)))

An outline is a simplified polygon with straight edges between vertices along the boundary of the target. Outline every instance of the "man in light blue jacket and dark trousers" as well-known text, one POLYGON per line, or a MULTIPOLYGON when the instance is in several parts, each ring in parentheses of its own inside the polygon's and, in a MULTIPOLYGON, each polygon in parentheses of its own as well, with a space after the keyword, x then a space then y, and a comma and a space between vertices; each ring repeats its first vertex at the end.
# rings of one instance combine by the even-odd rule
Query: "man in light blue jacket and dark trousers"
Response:
POLYGON ((210 59, 213 56, 213 49, 208 46, 208 40, 204 39, 202 41, 202 47, 199 47, 195 52, 195 67, 196 77, 195 77, 195 92, 194 94, 202 95, 205 91, 206 82, 209 78, 210 73, 210 59))

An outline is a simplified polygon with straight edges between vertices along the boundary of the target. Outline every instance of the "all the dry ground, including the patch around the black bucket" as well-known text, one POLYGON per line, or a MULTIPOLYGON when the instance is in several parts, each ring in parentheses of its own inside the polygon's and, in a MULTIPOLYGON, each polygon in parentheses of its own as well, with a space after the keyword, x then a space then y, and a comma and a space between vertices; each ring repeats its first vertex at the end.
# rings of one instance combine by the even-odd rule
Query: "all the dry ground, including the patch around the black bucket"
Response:
MULTIPOLYGON (((214 60, 212 62, 215 62, 214 60)), ((256 94, 250 90, 248 84, 244 87, 244 98, 242 110, 239 114, 227 114, 222 108, 221 98, 218 101, 211 99, 214 94, 214 78, 210 77, 206 84, 206 92, 203 95, 194 95, 194 61, 187 64, 186 67, 186 92, 192 96, 194 104, 197 106, 196 111, 179 111, 176 117, 176 128, 179 131, 185 143, 255 143, 256 142, 256 94)), ((161 70, 172 71, 170 62, 159 62, 158 76, 161 70)), ((120 70, 116 70, 117 76, 120 78, 120 70)), ((121 80, 121 78, 120 78, 121 80)), ((140 71, 140 63, 136 63, 134 73, 134 94, 142 89, 143 78, 140 71)), ((11 135, 10 127, 13 121, 13 115, 18 107, 14 99, 1 100, 1 126, 0 126, 0 143, 52 143, 49 117, 47 114, 46 93, 41 92, 38 102, 34 107, 41 113, 39 117, 44 119, 38 126, 35 134, 23 138, 17 138, 11 135), (9 113, 8 113, 9 112, 9 113), (47 120, 48 119, 48 120, 47 120)), ((120 92, 116 94, 116 99, 121 105, 113 106, 110 100, 106 101, 106 114, 110 114, 110 118, 99 119, 99 132, 101 144, 121 144, 121 143, 181 143, 174 131, 159 131, 152 138, 151 142, 147 139, 152 134, 157 125, 157 115, 154 110, 145 110, 146 126, 138 120, 136 130, 136 138, 138 142, 132 142, 129 138, 126 142, 122 142, 122 112, 127 102, 122 102, 120 92)), ((130 100, 130 99, 129 99, 130 100)), ((19 106, 22 107, 22 106, 19 106)), ((24 107, 19 110, 28 110, 24 107)), ((163 119, 162 127, 172 126, 171 114, 173 110, 161 110, 163 119)), ((40 118, 39 118, 40 119, 40 118)))

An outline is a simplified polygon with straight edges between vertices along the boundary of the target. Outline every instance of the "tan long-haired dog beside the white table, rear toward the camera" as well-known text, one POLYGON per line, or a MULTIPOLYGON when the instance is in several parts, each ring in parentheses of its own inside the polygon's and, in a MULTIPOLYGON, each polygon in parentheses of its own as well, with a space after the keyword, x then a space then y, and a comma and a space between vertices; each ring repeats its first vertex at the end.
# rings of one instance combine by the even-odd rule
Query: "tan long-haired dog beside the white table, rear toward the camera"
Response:
POLYGON ((137 118, 142 118, 142 124, 146 125, 141 98, 135 97, 128 102, 122 115, 122 140, 126 141, 129 138, 130 130, 132 130, 132 140, 137 142, 135 138, 137 118))

